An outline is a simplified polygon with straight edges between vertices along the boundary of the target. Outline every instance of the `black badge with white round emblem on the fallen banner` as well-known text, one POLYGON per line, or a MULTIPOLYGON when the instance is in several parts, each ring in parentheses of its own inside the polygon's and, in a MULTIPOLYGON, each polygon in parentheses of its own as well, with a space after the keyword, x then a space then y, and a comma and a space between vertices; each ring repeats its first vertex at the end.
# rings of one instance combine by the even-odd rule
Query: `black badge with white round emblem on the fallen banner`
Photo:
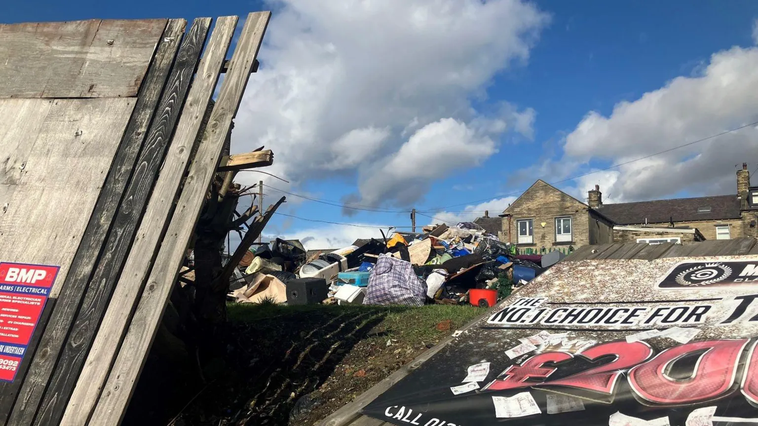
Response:
POLYGON ((682 262, 656 283, 662 290, 758 285, 758 262, 682 262))

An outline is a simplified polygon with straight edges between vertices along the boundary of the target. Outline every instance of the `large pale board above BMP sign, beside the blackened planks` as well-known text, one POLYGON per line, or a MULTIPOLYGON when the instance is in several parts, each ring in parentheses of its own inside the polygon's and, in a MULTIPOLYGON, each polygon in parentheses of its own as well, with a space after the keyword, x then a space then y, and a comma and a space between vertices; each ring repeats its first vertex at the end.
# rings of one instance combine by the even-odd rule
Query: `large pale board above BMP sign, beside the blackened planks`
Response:
POLYGON ((53 101, 25 174, 0 215, 3 261, 60 266, 52 298, 70 271, 134 103, 128 98, 53 101))

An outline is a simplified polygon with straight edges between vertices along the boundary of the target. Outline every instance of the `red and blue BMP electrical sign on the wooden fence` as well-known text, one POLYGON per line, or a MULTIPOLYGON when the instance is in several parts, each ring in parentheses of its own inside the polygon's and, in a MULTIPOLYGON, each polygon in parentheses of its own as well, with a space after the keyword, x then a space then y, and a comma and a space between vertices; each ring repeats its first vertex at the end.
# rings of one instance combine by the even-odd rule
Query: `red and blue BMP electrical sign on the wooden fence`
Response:
POLYGON ((58 269, 0 262, 0 381, 16 377, 58 269))

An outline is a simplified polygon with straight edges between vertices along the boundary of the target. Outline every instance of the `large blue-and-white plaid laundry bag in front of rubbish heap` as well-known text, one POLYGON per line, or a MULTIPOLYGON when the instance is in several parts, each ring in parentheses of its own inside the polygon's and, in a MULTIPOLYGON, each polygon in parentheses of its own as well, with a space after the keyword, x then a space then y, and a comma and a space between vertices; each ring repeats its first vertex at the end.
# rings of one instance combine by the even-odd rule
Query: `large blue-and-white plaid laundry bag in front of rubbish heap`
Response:
POLYGON ((368 277, 364 305, 423 306, 426 283, 416 277, 411 262, 381 255, 368 277))

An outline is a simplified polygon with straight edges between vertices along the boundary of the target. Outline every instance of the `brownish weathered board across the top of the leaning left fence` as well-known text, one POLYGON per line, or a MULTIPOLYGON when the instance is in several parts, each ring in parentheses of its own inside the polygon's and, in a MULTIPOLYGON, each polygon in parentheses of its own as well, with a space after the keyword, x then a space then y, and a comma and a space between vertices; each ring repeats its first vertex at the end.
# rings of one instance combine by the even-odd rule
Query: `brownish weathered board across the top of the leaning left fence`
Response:
POLYGON ((135 96, 165 19, 0 25, 0 98, 135 96))

